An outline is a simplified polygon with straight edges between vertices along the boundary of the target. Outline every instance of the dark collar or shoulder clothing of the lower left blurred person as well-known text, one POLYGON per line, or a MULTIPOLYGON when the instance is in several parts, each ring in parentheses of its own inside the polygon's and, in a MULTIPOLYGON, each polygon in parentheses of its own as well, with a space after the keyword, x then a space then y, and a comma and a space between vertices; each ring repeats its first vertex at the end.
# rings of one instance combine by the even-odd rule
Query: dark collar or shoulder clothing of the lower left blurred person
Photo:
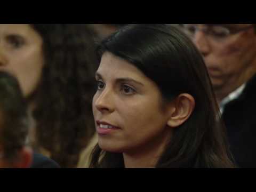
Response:
POLYGON ((33 162, 30 168, 60 168, 60 166, 41 154, 33 154, 33 162))

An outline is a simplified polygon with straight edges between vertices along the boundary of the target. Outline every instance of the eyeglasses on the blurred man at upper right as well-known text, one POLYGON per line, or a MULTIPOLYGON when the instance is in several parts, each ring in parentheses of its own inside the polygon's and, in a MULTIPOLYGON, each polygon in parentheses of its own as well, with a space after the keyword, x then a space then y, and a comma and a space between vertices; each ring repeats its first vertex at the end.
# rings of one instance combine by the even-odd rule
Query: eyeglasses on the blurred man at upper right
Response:
POLYGON ((203 31, 205 34, 217 40, 226 39, 231 35, 238 34, 242 31, 249 30, 255 27, 254 25, 250 25, 243 28, 231 28, 231 27, 222 26, 222 25, 200 25, 200 26, 195 24, 182 25, 183 29, 185 29, 185 32, 192 38, 195 36, 197 31, 203 31))

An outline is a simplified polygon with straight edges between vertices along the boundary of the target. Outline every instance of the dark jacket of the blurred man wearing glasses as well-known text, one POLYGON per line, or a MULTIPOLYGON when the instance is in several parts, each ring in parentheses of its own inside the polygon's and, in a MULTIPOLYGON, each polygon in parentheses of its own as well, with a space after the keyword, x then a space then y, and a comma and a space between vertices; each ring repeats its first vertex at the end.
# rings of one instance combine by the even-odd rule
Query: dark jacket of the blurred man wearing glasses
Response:
POLYGON ((256 76, 240 97, 228 103, 222 115, 231 152, 238 167, 256 167, 256 76))

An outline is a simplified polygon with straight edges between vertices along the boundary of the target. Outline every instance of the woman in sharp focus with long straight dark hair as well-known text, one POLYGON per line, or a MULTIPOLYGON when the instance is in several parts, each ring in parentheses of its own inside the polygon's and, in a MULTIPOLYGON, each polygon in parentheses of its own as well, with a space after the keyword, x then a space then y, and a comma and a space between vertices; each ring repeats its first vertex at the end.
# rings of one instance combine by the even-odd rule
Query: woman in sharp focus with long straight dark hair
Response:
POLYGON ((235 167, 205 63, 186 35, 130 25, 98 52, 91 167, 235 167))

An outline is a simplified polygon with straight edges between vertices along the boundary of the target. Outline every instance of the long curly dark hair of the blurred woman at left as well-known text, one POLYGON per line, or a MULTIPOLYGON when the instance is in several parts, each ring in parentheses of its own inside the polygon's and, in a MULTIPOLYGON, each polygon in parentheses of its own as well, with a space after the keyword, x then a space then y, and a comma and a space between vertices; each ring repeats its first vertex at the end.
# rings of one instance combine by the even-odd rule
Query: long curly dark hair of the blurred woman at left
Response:
POLYGON ((86 25, 30 24, 43 39, 44 68, 36 103, 37 145, 62 167, 75 167, 93 136, 92 97, 97 68, 86 25))

